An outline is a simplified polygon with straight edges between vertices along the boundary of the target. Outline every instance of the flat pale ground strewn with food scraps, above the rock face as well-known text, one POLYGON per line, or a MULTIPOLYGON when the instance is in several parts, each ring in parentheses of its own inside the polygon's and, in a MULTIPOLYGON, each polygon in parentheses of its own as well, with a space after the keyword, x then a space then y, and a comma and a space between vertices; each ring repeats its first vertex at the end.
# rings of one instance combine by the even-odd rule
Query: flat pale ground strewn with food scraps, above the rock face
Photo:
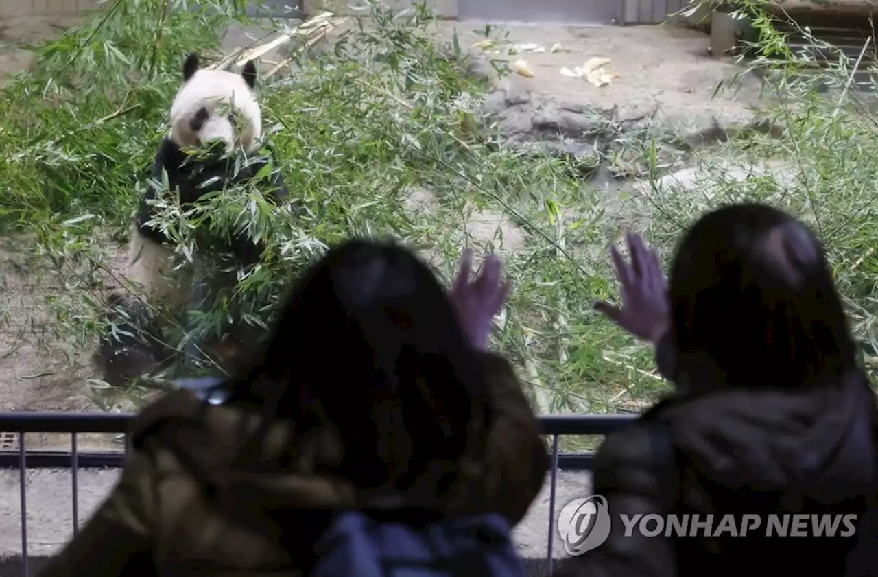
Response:
MULTIPOLYGON (((472 47, 484 37, 484 25, 443 22, 443 35, 457 30, 458 42, 472 47)), ((709 37, 680 26, 508 26, 492 37, 504 40, 500 54, 488 57, 522 60, 533 76, 512 74, 500 81, 517 91, 535 92, 559 103, 613 111, 620 122, 658 116, 671 124, 703 122, 711 117, 726 123, 746 122, 749 107, 759 103, 760 81, 742 76, 736 91, 712 97, 718 83, 743 72, 731 58, 709 54, 709 37), (503 54, 507 47, 518 54, 503 54), (552 48, 556 52, 551 52, 552 48), (565 76, 593 58, 607 58, 617 75, 598 87, 583 78, 565 76)))

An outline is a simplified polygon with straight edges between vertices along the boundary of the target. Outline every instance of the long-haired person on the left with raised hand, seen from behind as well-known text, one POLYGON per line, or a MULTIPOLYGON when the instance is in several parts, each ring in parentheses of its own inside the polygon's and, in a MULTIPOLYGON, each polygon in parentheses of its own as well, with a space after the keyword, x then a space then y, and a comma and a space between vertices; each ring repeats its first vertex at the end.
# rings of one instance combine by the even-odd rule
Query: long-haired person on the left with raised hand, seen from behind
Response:
POLYGON ((137 417, 119 485, 41 577, 309 574, 346 509, 518 523, 548 456, 510 366, 485 350, 500 263, 474 282, 463 264, 449 298, 407 250, 332 250, 223 405, 182 391, 137 417))

